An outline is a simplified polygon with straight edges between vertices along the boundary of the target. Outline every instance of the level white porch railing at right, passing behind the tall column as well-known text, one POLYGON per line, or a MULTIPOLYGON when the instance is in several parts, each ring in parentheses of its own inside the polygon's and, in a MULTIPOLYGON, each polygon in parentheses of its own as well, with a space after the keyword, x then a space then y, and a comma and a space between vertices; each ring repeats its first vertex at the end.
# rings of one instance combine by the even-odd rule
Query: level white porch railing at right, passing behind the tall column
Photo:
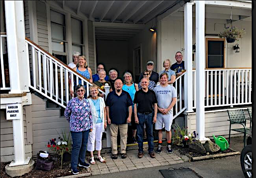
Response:
MULTIPOLYGON (((252 104, 252 69, 205 69, 205 107, 252 104)), ((193 70, 196 108, 196 70, 193 70)))

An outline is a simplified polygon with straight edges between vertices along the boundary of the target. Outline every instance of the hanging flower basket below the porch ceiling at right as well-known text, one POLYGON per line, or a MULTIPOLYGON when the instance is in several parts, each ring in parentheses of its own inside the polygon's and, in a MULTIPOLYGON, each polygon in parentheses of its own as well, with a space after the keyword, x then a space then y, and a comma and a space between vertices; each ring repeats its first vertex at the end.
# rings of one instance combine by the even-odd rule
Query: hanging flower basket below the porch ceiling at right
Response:
POLYGON ((233 43, 238 38, 243 38, 245 29, 238 29, 236 27, 226 27, 223 32, 219 33, 219 38, 226 38, 228 43, 233 43))

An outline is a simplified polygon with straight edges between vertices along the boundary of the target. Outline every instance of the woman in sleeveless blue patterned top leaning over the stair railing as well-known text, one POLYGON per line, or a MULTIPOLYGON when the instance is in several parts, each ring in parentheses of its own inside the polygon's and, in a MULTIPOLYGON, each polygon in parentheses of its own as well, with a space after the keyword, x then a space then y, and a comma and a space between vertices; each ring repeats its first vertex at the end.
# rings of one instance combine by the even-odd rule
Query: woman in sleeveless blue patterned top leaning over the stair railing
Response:
MULTIPOLYGON (((86 57, 84 55, 79 55, 78 56, 78 63, 77 66, 75 68, 73 68, 74 71, 76 71, 77 73, 81 74, 82 76, 84 76, 85 78, 89 79, 90 83, 92 83, 92 72, 91 72, 91 68, 88 67, 87 62, 86 62, 86 57)), ((82 84, 82 80, 79 78, 78 79, 78 84, 82 84)), ((76 77, 74 77, 74 88, 75 86, 78 85, 77 84, 77 79, 76 77)), ((86 82, 84 82, 84 87, 86 89, 86 82)), ((74 97, 74 90, 71 87, 71 82, 69 83, 69 92, 70 95, 72 97, 74 97)), ((86 97, 86 94, 85 94, 86 97)))

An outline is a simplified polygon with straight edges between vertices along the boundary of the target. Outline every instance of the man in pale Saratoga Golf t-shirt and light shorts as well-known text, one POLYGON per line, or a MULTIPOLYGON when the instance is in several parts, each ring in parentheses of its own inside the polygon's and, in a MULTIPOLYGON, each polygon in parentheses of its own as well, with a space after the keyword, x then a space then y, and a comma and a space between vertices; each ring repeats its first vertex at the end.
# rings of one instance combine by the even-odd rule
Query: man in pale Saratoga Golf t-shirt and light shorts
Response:
POLYGON ((160 85, 156 86, 153 91, 157 98, 157 120, 155 123, 155 130, 158 130, 158 147, 156 153, 162 153, 162 128, 165 124, 166 138, 167 138, 167 152, 173 153, 171 148, 172 138, 172 108, 176 104, 177 92, 176 89, 168 84, 168 74, 162 73, 160 75, 160 85))

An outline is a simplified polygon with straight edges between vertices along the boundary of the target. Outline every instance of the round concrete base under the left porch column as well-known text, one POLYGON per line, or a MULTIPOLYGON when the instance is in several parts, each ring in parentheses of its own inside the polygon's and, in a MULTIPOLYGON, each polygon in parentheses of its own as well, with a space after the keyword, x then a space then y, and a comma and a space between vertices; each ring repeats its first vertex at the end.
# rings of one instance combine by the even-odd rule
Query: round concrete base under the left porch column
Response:
POLYGON ((34 160, 30 160, 27 165, 18 165, 9 167, 9 164, 5 166, 5 173, 10 177, 22 176, 29 173, 34 168, 34 160))

